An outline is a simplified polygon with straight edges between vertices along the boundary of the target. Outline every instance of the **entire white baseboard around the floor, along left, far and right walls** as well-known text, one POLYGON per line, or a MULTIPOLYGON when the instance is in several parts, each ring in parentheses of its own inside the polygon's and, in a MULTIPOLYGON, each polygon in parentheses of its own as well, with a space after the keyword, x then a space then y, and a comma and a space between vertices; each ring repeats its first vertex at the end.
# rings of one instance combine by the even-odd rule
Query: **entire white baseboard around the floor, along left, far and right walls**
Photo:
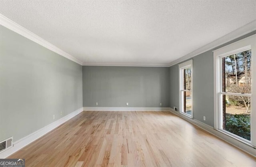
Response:
POLYGON ((35 131, 34 133, 31 133, 30 135, 27 135, 26 137, 23 137, 22 139, 14 142, 13 143, 14 147, 11 147, 10 149, 7 149, 6 151, 0 153, 0 159, 6 158, 6 157, 12 155, 19 149, 21 149, 21 148, 25 147, 26 145, 28 145, 29 143, 35 141, 42 135, 48 133, 52 129, 58 127, 59 125, 68 121, 72 117, 78 115, 82 111, 170 111, 170 112, 178 115, 179 117, 182 117, 183 119, 193 123, 194 125, 197 125, 198 127, 208 131, 209 133, 215 135, 216 137, 219 137, 220 139, 223 139, 224 141, 226 141, 226 142, 234 145, 235 147, 238 147, 239 149, 242 149, 243 151, 256 157, 256 149, 254 147, 252 147, 251 145, 244 143, 242 141, 239 141, 238 139, 235 139, 232 136, 229 136, 221 131, 218 131, 218 130, 214 129, 213 127, 206 125, 205 123, 202 123, 196 119, 191 119, 189 117, 186 117, 185 115, 183 115, 177 111, 174 111, 174 109, 172 109, 170 107, 82 107, 82 108, 66 115, 65 117, 62 117, 62 118, 58 119, 57 121, 39 129, 38 131, 35 131))

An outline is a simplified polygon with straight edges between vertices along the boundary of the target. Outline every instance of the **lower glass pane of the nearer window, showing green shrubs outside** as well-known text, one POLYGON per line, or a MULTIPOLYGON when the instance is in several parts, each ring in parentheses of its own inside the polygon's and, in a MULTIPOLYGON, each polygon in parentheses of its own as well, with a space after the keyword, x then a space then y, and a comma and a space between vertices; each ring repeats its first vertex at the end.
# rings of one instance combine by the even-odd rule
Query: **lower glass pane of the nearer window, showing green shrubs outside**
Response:
POLYGON ((222 129, 250 141, 251 97, 222 95, 222 129))

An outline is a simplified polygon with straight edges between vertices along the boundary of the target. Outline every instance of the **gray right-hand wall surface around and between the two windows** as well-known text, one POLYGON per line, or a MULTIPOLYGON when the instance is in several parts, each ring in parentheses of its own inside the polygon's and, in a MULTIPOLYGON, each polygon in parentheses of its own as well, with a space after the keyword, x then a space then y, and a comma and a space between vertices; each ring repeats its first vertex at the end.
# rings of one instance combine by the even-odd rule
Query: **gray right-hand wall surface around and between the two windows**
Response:
MULTIPOLYGON (((194 119, 214 126, 214 71, 213 50, 256 34, 256 31, 218 46, 193 57, 193 112, 194 119), (203 120, 206 116, 206 121, 203 120)), ((188 59, 190 60, 190 59, 188 59)), ((187 60, 186 60, 187 61, 187 60)), ((184 61, 185 62, 185 61, 184 61)), ((182 62, 181 62, 182 63, 182 62)), ((179 63, 180 64, 180 63, 179 63)), ((170 107, 179 108, 179 70, 178 64, 170 67, 170 107)))

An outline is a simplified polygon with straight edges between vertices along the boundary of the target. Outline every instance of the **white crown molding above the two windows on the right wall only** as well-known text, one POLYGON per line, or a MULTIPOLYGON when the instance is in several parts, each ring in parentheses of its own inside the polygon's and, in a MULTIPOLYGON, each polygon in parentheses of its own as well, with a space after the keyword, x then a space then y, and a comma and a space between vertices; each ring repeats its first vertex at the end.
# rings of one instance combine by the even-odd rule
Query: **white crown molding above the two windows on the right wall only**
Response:
POLYGON ((201 47, 201 48, 199 48, 199 49, 197 49, 197 50, 195 50, 195 51, 193 51, 193 52, 191 52, 191 53, 189 53, 189 54, 187 54, 187 55, 185 55, 185 56, 183 56, 183 57, 181 57, 177 60, 174 60, 173 62, 171 62, 169 64, 169 67, 173 66, 175 64, 178 64, 180 62, 183 62, 185 60, 188 60, 189 58, 193 58, 193 57, 195 57, 199 54, 202 54, 202 53, 204 53, 208 50, 211 50, 211 49, 214 49, 218 46, 221 46, 222 44, 226 44, 227 42, 230 42, 230 41, 232 41, 236 38, 239 38, 243 35, 246 35, 250 32, 253 32, 255 30, 256 30, 256 20, 254 20, 254 21, 252 21, 252 22, 250 22, 250 23, 248 23, 248 24, 246 24, 246 25, 228 33, 228 34, 226 34, 225 36, 222 36, 221 38, 219 38, 217 40, 214 40, 213 42, 210 42, 209 44, 207 44, 207 45, 205 45, 205 46, 203 46, 203 47, 201 47))

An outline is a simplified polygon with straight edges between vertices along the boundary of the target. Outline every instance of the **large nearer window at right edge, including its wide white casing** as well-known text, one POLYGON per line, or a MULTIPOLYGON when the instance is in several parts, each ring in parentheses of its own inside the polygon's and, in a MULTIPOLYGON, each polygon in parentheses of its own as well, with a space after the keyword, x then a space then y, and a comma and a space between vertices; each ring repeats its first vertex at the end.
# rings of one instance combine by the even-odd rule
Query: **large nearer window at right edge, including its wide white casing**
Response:
POLYGON ((256 144, 255 43, 254 35, 214 51, 214 126, 252 145, 256 144))

